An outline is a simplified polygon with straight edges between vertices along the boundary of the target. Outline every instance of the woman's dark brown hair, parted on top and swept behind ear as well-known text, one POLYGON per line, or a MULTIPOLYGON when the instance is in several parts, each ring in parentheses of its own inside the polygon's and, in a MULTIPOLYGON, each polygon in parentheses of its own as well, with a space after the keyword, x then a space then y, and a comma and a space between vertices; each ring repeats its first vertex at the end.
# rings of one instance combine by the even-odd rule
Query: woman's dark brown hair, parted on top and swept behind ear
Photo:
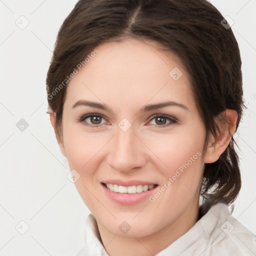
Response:
MULTIPOLYGON (((79 0, 58 31, 47 72, 48 104, 57 127, 61 130, 66 77, 96 46, 128 37, 154 41, 176 54, 189 74, 207 133, 204 155, 209 134, 216 137, 219 132, 215 117, 225 109, 236 110, 237 129, 245 107, 238 44, 222 20, 206 0, 79 0)), ((234 143, 232 137, 219 159, 205 164, 200 214, 217 202, 230 204, 238 195, 241 180, 234 143)))

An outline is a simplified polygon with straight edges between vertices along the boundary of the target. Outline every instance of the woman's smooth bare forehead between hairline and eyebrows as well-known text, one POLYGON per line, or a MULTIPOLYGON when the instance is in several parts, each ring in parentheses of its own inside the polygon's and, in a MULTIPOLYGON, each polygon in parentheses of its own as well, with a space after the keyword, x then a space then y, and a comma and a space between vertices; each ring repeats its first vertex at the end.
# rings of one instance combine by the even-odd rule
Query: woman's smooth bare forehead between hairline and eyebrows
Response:
POLYGON ((67 103, 87 99, 119 107, 175 100, 194 105, 179 58, 157 44, 136 39, 107 42, 70 80, 67 103))

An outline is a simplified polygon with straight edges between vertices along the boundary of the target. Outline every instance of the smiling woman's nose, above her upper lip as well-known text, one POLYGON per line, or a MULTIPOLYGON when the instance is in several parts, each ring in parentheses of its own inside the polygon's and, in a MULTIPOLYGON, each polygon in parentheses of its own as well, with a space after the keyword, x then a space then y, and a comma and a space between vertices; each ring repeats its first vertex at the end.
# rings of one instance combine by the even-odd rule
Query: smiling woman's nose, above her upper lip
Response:
POLYGON ((135 135, 132 125, 126 131, 117 127, 116 134, 109 144, 107 163, 122 172, 137 170, 146 162, 146 154, 143 150, 145 145, 135 135))

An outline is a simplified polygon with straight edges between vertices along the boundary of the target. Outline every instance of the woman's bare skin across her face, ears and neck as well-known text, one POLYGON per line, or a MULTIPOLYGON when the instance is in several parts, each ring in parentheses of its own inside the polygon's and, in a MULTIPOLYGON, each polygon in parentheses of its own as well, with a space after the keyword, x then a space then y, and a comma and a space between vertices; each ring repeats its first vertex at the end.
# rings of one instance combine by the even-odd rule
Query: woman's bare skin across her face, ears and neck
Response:
MULTIPOLYGON (((57 134, 55 114, 50 121, 70 170, 80 178, 75 186, 96 218, 102 243, 109 255, 154 255, 188 231, 198 218, 198 198, 204 163, 214 162, 227 147, 231 136, 221 128, 217 139, 210 137, 202 154, 157 198, 134 205, 121 205, 102 192, 104 179, 139 179, 166 183, 179 166, 197 151, 202 152, 205 127, 196 109, 190 81, 181 61, 159 50, 156 44, 135 39, 108 42, 68 84, 63 105, 62 131, 57 134), (174 80, 169 72, 178 67, 182 75, 174 80), (108 110, 79 105, 78 100, 105 104, 108 110), (172 100, 185 105, 166 106, 144 112, 147 104, 172 100), (101 114, 96 121, 85 114, 101 114), (177 122, 154 115, 169 115, 177 122), (131 124, 123 131, 118 123, 131 124), (165 127, 162 127, 166 125, 165 127), (131 229, 123 234, 118 226, 126 221, 131 229)), ((226 109, 228 128, 233 134, 237 113, 226 109)))

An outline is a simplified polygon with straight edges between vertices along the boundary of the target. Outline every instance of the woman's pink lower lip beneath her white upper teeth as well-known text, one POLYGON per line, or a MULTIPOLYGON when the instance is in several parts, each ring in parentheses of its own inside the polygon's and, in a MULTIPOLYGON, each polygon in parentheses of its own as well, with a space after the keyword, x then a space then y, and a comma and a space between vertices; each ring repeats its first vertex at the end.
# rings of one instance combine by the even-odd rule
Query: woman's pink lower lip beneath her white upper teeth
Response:
POLYGON ((101 184, 101 186, 103 187, 104 192, 110 199, 112 199, 113 201, 119 204, 124 204, 124 205, 131 205, 131 204, 135 204, 143 201, 145 198, 148 198, 157 187, 155 186, 150 190, 143 191, 140 193, 129 194, 129 193, 119 193, 119 192, 111 191, 110 189, 106 188, 103 184, 101 184))

